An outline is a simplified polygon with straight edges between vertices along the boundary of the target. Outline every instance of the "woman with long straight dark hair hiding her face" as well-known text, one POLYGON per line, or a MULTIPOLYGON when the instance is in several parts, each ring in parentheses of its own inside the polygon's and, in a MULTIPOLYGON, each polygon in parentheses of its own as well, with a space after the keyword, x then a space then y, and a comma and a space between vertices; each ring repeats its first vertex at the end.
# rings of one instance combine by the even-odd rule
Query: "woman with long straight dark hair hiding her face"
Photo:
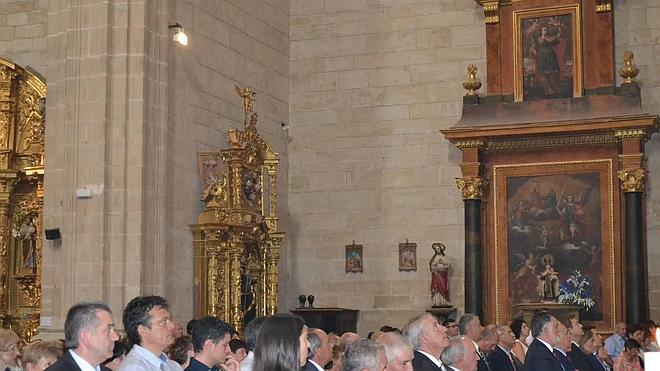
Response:
POLYGON ((307 346, 307 326, 301 317, 268 317, 254 349, 253 370, 298 371, 307 362, 307 346))

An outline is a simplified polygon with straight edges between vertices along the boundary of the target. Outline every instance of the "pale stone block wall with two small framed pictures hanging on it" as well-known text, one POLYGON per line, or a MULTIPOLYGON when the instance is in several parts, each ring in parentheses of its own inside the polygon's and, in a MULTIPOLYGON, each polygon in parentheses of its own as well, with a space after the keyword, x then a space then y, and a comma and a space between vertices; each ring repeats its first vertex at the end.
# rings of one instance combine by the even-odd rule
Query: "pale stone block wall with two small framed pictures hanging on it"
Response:
MULTIPOLYGON (((458 121, 468 64, 485 64, 473 1, 294 0, 291 6, 289 297, 359 309, 358 330, 401 327, 430 307, 431 244, 447 245, 463 302, 458 121), (417 243, 399 272, 398 244, 417 243), (346 273, 344 246, 364 245, 346 273)), ((482 76, 483 72, 482 72, 482 76)))

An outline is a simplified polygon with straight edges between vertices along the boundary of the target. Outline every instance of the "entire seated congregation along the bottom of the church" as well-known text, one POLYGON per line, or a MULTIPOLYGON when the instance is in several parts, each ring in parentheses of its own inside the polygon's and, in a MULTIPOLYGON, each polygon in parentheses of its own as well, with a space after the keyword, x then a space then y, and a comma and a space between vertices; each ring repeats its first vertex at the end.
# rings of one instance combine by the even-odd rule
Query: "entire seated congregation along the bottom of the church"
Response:
POLYGON ((474 314, 441 324, 424 313, 401 330, 386 325, 360 338, 308 328, 292 314, 253 319, 242 336, 207 316, 191 320, 184 334, 169 308, 160 296, 131 300, 122 315, 125 338, 101 302, 69 309, 63 341, 23 345, 0 330, 0 370, 638 371, 644 352, 660 350, 653 321, 620 323, 603 340, 577 318, 563 323, 548 311, 529 325, 515 319, 485 327, 474 314))

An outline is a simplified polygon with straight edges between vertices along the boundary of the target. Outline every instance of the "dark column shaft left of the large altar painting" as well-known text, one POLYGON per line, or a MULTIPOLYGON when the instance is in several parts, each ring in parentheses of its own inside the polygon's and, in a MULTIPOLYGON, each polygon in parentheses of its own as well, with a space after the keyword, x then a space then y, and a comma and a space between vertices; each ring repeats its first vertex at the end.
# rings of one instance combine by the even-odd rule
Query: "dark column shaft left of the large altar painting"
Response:
POLYGON ((483 321, 481 200, 465 199, 465 312, 483 321))

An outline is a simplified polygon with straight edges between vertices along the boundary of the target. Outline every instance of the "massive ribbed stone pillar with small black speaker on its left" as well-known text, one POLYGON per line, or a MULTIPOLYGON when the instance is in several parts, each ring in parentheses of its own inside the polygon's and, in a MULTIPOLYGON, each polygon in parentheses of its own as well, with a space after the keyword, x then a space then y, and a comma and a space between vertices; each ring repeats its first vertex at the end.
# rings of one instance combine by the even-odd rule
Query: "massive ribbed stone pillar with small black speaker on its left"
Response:
POLYGON ((165 291, 167 1, 49 2, 42 334, 165 291), (76 197, 87 189, 89 198, 76 197))

